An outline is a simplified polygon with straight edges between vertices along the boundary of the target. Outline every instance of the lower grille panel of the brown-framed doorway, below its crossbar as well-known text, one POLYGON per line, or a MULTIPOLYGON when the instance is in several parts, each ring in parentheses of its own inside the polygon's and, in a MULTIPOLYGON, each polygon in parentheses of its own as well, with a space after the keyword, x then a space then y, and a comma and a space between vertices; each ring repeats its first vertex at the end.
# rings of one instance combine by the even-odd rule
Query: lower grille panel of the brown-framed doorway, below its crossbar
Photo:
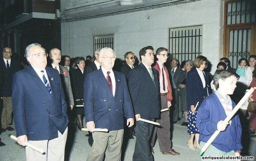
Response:
POLYGON ((250 39, 250 29, 230 30, 228 59, 233 68, 238 67, 239 59, 246 58, 248 60, 251 47, 250 39))

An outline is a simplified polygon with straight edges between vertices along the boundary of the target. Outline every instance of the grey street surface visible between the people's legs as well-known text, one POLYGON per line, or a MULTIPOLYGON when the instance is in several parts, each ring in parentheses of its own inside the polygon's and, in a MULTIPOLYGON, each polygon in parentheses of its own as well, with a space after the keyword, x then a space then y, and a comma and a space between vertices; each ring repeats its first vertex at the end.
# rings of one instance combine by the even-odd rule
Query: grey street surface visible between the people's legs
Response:
MULTIPOLYGON (((178 123, 174 124, 174 131, 173 131, 173 148, 180 152, 181 155, 164 155, 160 152, 158 142, 154 147, 154 158, 156 161, 162 160, 201 160, 199 153, 199 149, 196 151, 190 150, 187 147, 187 140, 189 138, 187 129, 185 126, 180 126, 183 121, 179 121, 178 123)), ((14 127, 14 126, 13 126, 14 127)), ((86 160, 88 153, 90 152, 90 146, 88 144, 88 136, 86 131, 79 131, 77 128, 73 129, 74 131, 74 140, 69 139, 69 144, 67 146, 67 153, 66 160, 70 161, 79 161, 79 160, 86 160), (70 144, 73 145, 71 146, 70 144)), ((6 144, 6 146, 0 147, 0 160, 12 160, 12 161, 23 161, 26 160, 25 156, 25 148, 19 146, 15 143, 14 140, 8 137, 8 134, 15 135, 15 131, 6 131, 1 134, 2 142, 6 144)), ((133 140, 128 140, 126 143, 126 150, 123 152, 123 160, 124 161, 131 161, 132 155, 134 152, 136 138, 133 140)), ((249 146, 249 154, 252 156, 256 156, 256 138, 250 140, 249 146)), ((39 160, 38 160, 39 161, 39 160)), ((54 160, 55 161, 55 160, 54 160)))

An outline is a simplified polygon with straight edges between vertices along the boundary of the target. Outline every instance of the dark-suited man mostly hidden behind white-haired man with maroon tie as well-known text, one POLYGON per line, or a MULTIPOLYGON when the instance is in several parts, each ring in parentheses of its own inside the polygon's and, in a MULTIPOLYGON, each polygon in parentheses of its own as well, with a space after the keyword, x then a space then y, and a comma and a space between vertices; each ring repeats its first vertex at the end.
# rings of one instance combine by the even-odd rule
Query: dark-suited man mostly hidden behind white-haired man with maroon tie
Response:
MULTIPOLYGON (((100 69, 100 62, 99 62, 99 51, 100 49, 97 49, 94 53, 94 57, 95 57, 95 61, 93 61, 92 63, 90 63, 89 65, 87 65, 84 68, 84 72, 85 74, 91 73, 95 70, 99 70, 100 69)), ((88 138, 88 143, 90 146, 93 145, 93 135, 92 132, 89 131, 89 138, 88 138)))

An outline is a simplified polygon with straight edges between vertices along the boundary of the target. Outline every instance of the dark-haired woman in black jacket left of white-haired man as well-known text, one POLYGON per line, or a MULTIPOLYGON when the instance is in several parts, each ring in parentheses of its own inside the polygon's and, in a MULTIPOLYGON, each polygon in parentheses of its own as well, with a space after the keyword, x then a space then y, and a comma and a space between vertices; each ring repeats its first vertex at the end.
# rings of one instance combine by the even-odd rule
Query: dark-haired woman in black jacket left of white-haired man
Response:
POLYGON ((84 67, 86 66, 85 60, 83 57, 76 59, 76 67, 72 71, 72 83, 73 83, 73 95, 75 100, 75 115, 77 115, 77 125, 78 129, 83 128, 83 82, 84 82, 84 67))

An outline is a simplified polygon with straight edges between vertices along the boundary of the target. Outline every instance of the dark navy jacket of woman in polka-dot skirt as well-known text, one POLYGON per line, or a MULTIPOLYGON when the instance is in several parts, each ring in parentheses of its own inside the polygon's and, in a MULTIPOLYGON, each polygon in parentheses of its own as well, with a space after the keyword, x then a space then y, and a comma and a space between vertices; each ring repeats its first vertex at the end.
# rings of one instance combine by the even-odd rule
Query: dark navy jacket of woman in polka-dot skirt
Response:
MULTIPOLYGON (((207 97, 207 89, 208 94, 211 93, 210 85, 209 85, 209 74, 204 72, 204 79, 205 79, 205 88, 203 88, 203 83, 201 78, 197 72, 197 69, 194 68, 187 72, 186 75, 186 91, 187 91, 187 105, 195 105, 199 101, 201 104, 205 97, 207 97)), ((199 105, 200 105, 199 104, 199 105)))

